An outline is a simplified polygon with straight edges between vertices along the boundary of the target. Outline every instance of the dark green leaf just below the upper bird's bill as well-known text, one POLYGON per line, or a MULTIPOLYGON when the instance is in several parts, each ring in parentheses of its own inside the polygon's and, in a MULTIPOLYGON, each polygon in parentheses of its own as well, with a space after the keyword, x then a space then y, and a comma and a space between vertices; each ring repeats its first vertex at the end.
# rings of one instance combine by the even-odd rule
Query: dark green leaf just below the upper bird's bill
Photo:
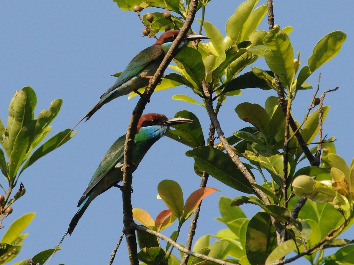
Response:
POLYGON ((185 47, 175 56, 175 59, 182 63, 190 78, 201 88, 205 67, 200 52, 192 47, 185 47))

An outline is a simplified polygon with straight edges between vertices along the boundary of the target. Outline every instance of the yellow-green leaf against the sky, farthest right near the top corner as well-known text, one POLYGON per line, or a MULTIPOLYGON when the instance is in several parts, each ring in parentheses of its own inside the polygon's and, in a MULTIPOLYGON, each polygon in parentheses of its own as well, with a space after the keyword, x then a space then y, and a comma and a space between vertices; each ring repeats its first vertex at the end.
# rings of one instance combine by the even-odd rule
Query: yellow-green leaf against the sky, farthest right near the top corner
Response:
POLYGON ((333 31, 324 36, 313 49, 313 54, 308 59, 311 72, 337 55, 346 40, 347 35, 342 31, 333 31))

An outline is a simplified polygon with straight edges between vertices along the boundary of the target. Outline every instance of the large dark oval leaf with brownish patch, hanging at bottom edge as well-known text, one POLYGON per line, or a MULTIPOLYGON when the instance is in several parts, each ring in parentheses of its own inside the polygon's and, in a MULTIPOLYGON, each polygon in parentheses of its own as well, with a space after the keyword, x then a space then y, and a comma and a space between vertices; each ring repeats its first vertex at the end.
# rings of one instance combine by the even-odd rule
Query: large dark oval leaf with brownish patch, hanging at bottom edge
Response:
POLYGON ((265 264, 267 257, 276 247, 276 233, 269 214, 256 213, 247 226, 247 259, 251 265, 265 264))

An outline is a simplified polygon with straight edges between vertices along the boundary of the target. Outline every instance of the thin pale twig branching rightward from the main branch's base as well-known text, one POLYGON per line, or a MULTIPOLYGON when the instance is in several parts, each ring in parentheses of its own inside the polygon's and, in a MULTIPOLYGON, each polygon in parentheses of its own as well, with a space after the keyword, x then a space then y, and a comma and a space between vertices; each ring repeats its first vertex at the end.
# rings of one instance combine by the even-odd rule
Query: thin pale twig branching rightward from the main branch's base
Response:
POLYGON ((177 242, 173 241, 171 238, 165 236, 165 235, 162 235, 160 234, 159 232, 156 232, 154 230, 151 230, 149 228, 147 228, 146 226, 143 226, 143 225, 135 225, 134 226, 134 229, 135 230, 140 230, 140 231, 145 231, 145 232, 148 232, 149 234, 152 234, 154 236, 157 236, 159 238, 161 238, 162 240, 165 240, 166 242, 169 242, 172 246, 174 246, 175 248, 177 248, 179 251, 182 251, 184 253, 187 253, 188 255, 191 255, 193 257, 196 257, 196 258, 200 258, 200 259, 204 259, 204 260, 207 260, 207 261, 211 261, 211 262, 214 262, 214 263, 217 263, 217 264, 221 264, 221 265, 235 265, 235 264, 239 264, 239 263, 230 263, 228 261, 225 261, 225 260, 221 260, 221 259, 215 259, 215 258, 212 258, 212 257, 209 257, 209 256, 206 256, 206 255, 203 255, 203 254, 200 254, 200 253, 196 253, 196 252, 193 252, 193 251, 190 251, 189 249, 185 248, 185 247, 182 247, 181 245, 179 245, 177 242))

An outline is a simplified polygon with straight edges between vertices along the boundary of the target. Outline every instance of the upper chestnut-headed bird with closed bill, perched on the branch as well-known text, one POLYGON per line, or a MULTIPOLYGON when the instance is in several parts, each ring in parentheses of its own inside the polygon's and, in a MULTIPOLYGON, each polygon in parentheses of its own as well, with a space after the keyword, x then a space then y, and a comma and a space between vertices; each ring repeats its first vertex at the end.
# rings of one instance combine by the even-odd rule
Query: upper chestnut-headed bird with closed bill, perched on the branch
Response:
MULTIPOLYGON (((162 34, 159 39, 143 51, 139 52, 125 67, 124 71, 118 77, 117 81, 104 93, 97 104, 91 108, 80 122, 86 118, 90 119, 93 113, 101 108, 107 102, 118 98, 119 96, 137 91, 139 88, 147 87, 151 76, 155 75, 156 70, 169 51, 172 42, 176 39, 179 30, 169 30, 162 34)), ((175 55, 179 53, 189 41, 210 39, 203 35, 187 35, 178 46, 175 55)))

